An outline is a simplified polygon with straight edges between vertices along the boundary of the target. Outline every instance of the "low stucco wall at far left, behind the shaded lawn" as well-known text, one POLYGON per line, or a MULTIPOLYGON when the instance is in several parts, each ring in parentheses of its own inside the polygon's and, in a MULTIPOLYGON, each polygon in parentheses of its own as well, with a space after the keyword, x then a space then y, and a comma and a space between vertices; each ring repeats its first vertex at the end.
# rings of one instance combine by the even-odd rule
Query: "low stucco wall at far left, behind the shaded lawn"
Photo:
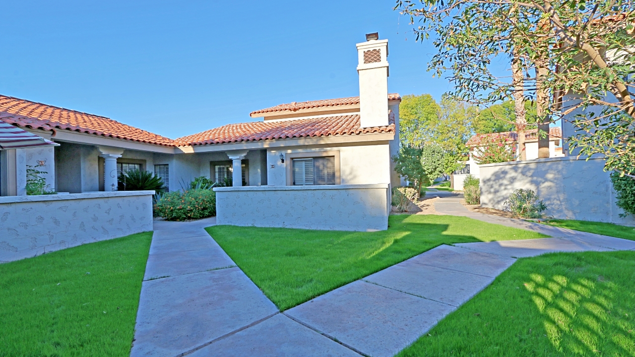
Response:
POLYGON ((0 262, 152 231, 154 191, 0 197, 0 262))

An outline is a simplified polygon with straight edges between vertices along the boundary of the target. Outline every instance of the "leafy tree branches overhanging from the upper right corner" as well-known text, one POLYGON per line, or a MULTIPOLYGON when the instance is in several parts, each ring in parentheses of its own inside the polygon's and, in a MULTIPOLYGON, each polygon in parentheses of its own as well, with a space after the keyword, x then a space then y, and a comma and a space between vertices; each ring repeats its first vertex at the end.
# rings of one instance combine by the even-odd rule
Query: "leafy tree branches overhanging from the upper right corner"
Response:
POLYGON ((395 8, 412 24, 418 19, 418 40, 432 37, 438 51, 428 69, 448 74, 451 95, 477 104, 508 100, 518 89, 491 63, 515 57, 526 99, 540 99, 542 127, 577 113, 569 119, 578 128, 571 146, 604 154, 607 170, 635 174, 634 2, 398 0, 395 8), (565 93, 578 96, 559 100, 565 93))

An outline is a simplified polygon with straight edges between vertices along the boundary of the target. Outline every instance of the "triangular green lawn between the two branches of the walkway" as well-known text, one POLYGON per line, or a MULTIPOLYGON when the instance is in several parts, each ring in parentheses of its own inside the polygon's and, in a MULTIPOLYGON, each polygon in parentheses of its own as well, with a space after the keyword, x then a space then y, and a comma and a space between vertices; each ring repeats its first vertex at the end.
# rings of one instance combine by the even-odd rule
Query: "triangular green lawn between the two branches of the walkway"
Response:
POLYGON ((236 226, 207 231, 282 310, 444 243, 545 237, 451 215, 391 215, 389 229, 379 232, 236 226))

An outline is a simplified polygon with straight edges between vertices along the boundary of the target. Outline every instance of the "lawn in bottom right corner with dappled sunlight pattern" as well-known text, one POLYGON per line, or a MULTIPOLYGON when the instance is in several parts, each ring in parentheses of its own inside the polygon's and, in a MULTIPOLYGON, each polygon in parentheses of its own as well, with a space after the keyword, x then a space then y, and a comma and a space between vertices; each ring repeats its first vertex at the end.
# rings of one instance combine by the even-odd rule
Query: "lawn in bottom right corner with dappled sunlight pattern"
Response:
POLYGON ((634 356, 635 252, 519 259, 406 356, 634 356))

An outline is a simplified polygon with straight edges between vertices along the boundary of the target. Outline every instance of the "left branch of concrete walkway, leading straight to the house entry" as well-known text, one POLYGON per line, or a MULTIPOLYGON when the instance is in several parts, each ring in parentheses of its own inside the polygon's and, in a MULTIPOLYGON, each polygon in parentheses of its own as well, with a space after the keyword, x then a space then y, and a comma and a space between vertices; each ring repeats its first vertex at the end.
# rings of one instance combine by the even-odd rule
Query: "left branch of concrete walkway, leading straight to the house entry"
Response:
POLYGON ((204 231, 214 224, 154 222, 131 356, 359 356, 280 314, 204 231))

